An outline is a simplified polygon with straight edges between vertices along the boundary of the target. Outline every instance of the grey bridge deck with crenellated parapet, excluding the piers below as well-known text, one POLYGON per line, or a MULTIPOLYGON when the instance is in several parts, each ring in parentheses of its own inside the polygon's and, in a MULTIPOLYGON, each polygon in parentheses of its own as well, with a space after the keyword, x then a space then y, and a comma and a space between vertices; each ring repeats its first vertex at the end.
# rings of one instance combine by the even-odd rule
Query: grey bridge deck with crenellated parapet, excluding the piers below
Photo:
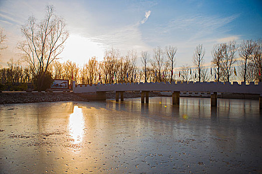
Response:
POLYGON ((254 93, 262 95, 262 82, 258 85, 250 83, 241 85, 226 82, 172 82, 172 83, 124 83, 124 84, 97 84, 92 86, 77 85, 73 82, 73 92, 97 92, 97 91, 196 91, 196 92, 232 92, 232 93, 254 93))

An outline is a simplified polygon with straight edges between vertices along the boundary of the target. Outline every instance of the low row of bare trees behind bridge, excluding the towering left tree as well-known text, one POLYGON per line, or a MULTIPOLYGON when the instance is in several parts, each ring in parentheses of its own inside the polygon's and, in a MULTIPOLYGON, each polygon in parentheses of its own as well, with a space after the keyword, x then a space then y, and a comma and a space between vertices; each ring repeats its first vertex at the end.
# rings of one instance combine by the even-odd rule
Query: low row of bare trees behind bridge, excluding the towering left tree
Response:
MULTIPOLYGON (((205 67, 206 54, 203 45, 194 51, 192 64, 179 67, 174 71, 177 48, 167 46, 153 49, 153 55, 142 51, 129 50, 121 56, 120 51, 111 48, 105 51, 102 61, 92 57, 82 66, 75 62, 60 63, 54 60, 47 66, 47 75, 52 79, 69 80, 70 84, 112 84, 137 82, 231 82, 239 74, 244 82, 262 82, 262 42, 244 40, 239 46, 235 41, 216 44, 212 50, 212 66, 205 67), (237 57, 239 55, 239 57, 237 57), (141 61, 142 66, 137 66, 141 61), (172 68, 173 67, 173 68, 172 68), (235 68, 238 67, 238 68, 235 68)), ((21 66, 19 62, 10 61, 8 68, 0 69, 0 83, 33 83, 35 78, 31 66, 21 66)))

